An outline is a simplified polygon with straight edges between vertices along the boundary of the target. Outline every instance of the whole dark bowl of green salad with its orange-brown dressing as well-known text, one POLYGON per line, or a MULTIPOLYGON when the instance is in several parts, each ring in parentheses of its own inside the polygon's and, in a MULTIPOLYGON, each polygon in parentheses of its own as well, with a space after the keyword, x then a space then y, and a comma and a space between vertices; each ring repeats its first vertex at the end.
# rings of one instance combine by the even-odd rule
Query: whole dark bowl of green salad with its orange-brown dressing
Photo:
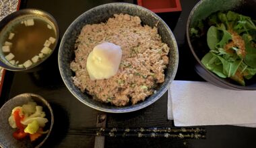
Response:
POLYGON ((256 89, 256 1, 202 0, 187 21, 195 71, 227 89, 256 89))

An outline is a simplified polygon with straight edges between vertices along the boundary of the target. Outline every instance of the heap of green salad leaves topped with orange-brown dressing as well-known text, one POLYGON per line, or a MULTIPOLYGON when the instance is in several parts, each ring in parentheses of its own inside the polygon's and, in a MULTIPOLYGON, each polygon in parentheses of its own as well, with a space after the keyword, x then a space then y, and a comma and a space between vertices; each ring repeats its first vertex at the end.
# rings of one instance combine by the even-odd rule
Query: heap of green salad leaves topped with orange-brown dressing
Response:
MULTIPOLYGON (((233 11, 214 13, 206 21, 209 27, 200 28, 209 28, 206 36, 210 51, 201 63, 219 77, 245 85, 244 79, 256 74, 256 21, 233 11)), ((199 32, 191 32, 199 36, 199 32)))

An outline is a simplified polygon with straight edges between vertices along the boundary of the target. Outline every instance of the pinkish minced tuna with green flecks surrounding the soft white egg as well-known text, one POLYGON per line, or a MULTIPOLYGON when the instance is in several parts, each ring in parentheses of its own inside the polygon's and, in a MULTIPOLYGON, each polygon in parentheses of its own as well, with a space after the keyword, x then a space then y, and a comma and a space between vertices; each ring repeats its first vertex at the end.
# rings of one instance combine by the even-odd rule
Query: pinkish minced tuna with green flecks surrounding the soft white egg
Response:
POLYGON ((157 83, 164 82, 170 48, 163 43, 156 27, 141 26, 137 16, 115 14, 106 23, 86 25, 75 44, 74 84, 100 102, 115 106, 137 104, 154 93, 157 83), (94 46, 112 42, 121 46, 123 55, 116 75, 91 80, 86 59, 94 46))

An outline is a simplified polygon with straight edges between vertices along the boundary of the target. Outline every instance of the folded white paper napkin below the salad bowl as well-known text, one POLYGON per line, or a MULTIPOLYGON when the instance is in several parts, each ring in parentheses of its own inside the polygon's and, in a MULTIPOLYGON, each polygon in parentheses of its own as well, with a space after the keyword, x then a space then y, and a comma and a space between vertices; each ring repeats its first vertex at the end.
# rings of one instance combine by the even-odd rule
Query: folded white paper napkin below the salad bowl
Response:
POLYGON ((256 127, 256 91, 234 91, 208 82, 173 81, 168 119, 175 126, 232 124, 256 127))

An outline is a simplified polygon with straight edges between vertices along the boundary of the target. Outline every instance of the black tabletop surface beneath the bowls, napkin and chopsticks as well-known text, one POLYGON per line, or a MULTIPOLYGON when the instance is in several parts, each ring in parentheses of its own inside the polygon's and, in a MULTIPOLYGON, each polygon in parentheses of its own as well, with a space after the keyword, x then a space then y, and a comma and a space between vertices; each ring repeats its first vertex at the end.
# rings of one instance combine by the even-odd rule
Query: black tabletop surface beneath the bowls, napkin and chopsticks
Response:
MULTIPOLYGON (((199 0, 181 0, 182 12, 159 13, 170 26, 179 45, 179 80, 203 81, 194 69, 195 59, 187 46, 185 30, 187 17, 199 0)), ((51 13, 59 24, 60 35, 84 11, 97 5, 110 2, 135 3, 136 1, 94 1, 94 0, 25 0, 20 9, 37 8, 51 13)), ((57 64, 55 50, 40 71, 30 73, 7 71, 3 83, 0 106, 18 94, 31 92, 46 98, 53 107, 55 124, 51 136, 44 147, 94 147, 94 137, 79 134, 77 128, 95 127, 96 116, 102 112, 89 108, 79 102, 65 87, 57 64), (72 133, 75 133, 73 135, 72 133)), ((238 108, 239 109, 239 108, 238 108)), ((245 116, 247 116, 245 114, 245 116)), ((239 118, 239 116, 237 117, 239 118)), ((167 120, 167 93, 157 102, 127 114, 107 113, 108 127, 150 127, 174 126, 167 120)), ((112 138, 107 137, 105 147, 256 147, 256 128, 238 126, 204 126, 207 138, 201 140, 112 138)))

